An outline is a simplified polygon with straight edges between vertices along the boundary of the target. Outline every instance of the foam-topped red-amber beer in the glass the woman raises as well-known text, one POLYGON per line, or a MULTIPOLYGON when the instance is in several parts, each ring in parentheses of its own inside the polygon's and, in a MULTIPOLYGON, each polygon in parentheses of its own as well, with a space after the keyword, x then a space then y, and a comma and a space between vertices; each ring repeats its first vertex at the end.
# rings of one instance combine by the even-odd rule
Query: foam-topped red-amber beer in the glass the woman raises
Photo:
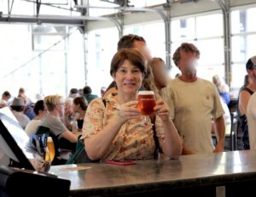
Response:
POLYGON ((137 108, 142 115, 150 115, 154 112, 155 98, 153 91, 139 91, 137 95, 137 108))

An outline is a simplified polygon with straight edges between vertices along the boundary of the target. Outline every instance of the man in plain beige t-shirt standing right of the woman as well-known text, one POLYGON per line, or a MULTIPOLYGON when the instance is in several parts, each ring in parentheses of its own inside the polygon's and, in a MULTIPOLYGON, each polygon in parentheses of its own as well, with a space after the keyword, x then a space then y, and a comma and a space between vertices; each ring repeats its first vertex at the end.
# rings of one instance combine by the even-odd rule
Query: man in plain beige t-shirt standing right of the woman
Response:
POLYGON ((224 151, 224 110, 212 82, 196 76, 200 51, 184 42, 173 54, 181 76, 167 86, 166 102, 171 117, 183 138, 183 155, 224 151), (212 118, 217 128, 218 144, 212 144, 212 118))

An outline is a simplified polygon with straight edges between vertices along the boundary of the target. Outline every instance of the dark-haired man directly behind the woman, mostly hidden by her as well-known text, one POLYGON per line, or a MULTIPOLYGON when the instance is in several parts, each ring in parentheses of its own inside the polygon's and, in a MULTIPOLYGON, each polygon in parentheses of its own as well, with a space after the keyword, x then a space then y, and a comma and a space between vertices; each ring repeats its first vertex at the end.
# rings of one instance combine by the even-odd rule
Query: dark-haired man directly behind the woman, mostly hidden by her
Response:
MULTIPOLYGON (((141 89, 149 89, 149 87, 152 87, 152 73, 148 69, 148 65, 150 64, 152 57, 145 39, 134 34, 125 35, 119 39, 117 50, 119 51, 122 48, 133 48, 143 54, 143 58, 146 63, 147 74, 143 78, 141 89)), ((109 93, 117 93, 114 81, 108 86, 103 98, 106 98, 109 93)))

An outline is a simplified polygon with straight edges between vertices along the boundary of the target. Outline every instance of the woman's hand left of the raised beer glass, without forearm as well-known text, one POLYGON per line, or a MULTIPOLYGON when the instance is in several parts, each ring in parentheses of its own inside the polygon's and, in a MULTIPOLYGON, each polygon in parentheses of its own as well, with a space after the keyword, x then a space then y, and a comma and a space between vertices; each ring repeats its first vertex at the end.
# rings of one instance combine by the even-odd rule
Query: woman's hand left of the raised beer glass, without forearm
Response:
POLYGON ((130 101, 120 105, 119 111, 116 115, 116 121, 124 124, 125 121, 138 118, 140 115, 141 112, 137 109, 137 101, 130 101))

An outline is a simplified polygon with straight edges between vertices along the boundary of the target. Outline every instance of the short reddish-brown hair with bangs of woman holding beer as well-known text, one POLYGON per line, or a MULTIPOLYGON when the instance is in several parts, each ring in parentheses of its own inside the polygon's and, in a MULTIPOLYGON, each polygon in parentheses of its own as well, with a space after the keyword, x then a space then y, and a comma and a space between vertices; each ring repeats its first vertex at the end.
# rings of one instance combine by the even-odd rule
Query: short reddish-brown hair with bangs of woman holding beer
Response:
POLYGON ((146 73, 147 69, 146 69, 143 55, 135 49, 123 48, 113 55, 113 59, 111 61, 111 66, 110 66, 111 76, 113 76, 113 74, 116 73, 120 65, 122 65, 125 60, 130 61, 132 65, 136 65, 138 69, 141 70, 143 75, 146 73))

